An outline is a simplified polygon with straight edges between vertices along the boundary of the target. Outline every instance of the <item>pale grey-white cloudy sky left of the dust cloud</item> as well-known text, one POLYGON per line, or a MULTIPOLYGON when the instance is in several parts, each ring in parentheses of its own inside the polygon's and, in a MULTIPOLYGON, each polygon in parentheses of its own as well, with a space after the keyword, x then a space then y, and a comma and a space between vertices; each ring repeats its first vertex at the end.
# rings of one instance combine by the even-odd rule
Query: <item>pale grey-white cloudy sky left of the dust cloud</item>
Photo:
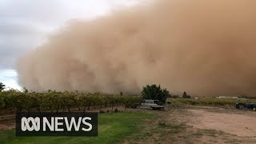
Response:
POLYGON ((70 19, 90 21, 136 4, 135 0, 1 0, 0 82, 8 89, 21 90, 15 70, 17 59, 70 19))

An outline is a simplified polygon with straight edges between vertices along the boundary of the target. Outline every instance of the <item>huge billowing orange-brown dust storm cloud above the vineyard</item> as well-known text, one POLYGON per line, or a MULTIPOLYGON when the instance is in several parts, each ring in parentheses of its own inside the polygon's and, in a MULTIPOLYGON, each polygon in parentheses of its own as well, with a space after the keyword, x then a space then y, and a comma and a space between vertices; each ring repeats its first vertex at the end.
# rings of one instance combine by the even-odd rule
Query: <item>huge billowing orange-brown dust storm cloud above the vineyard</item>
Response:
POLYGON ((18 60, 29 90, 256 95, 256 1, 166 0, 72 21, 18 60))

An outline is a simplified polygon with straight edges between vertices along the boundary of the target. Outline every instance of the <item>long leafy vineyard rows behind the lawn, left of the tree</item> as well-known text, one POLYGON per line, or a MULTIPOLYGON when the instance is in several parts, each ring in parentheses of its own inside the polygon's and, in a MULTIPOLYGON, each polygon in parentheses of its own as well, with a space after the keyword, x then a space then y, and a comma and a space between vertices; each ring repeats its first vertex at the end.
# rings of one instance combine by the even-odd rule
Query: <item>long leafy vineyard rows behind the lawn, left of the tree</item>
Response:
POLYGON ((20 92, 17 90, 8 90, 0 92, 0 114, 6 111, 68 111, 79 110, 86 112, 90 108, 107 106, 130 106, 131 103, 142 102, 140 96, 124 96, 101 93, 80 93, 80 92, 56 92, 48 90, 43 93, 38 92, 20 92))

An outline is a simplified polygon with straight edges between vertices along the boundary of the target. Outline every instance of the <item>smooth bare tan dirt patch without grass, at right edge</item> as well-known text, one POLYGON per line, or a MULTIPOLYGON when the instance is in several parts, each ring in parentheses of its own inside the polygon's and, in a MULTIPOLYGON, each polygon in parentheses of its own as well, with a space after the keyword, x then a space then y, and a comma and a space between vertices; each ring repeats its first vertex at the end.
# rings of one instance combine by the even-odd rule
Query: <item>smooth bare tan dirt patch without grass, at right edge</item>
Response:
POLYGON ((222 130, 241 137, 256 137, 256 113, 252 111, 223 110, 225 113, 207 110, 187 110, 193 118, 189 125, 199 129, 222 130))

